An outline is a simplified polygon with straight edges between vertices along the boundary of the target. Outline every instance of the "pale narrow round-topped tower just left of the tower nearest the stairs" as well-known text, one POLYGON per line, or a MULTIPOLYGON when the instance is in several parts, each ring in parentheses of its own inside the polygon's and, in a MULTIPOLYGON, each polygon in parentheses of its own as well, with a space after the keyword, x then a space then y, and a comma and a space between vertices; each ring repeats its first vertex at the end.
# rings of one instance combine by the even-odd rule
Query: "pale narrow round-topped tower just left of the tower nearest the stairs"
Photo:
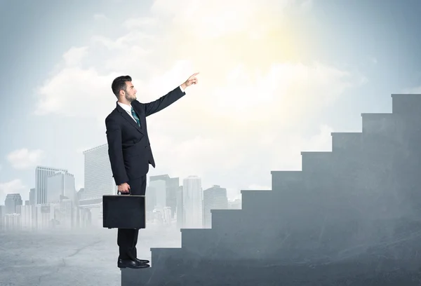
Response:
POLYGON ((183 180, 184 228, 203 228, 203 195, 201 178, 189 176, 183 180))

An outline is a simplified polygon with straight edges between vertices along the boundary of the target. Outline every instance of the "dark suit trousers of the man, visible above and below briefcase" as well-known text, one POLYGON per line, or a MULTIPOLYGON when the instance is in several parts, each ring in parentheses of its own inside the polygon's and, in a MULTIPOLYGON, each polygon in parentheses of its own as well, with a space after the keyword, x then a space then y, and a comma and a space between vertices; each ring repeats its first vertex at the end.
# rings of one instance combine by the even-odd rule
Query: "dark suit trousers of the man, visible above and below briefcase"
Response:
MULTIPOLYGON (((145 196, 146 175, 128 182, 130 194, 145 196)), ((117 245, 119 245, 119 259, 132 259, 137 257, 136 244, 138 243, 138 229, 118 229, 117 245)))

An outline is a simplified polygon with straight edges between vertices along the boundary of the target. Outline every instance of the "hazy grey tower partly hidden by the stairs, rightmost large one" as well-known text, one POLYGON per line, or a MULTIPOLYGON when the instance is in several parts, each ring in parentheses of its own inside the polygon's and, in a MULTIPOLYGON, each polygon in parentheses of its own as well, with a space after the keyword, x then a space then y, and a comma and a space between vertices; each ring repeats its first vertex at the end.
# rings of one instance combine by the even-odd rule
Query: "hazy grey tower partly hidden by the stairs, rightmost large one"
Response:
POLYGON ((212 226, 210 210, 225 210, 228 207, 227 189, 214 185, 203 191, 203 225, 212 226))

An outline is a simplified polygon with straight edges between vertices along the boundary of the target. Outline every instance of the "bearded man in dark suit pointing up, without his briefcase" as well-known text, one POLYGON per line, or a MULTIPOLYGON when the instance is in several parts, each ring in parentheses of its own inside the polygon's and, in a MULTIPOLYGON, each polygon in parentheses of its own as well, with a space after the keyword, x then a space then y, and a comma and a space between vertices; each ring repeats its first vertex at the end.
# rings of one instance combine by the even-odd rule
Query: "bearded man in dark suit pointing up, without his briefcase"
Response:
MULTIPOLYGON (((170 106, 185 95, 185 89, 197 83, 197 74, 199 73, 193 74, 181 86, 149 103, 136 99, 138 91, 130 76, 119 76, 112 82, 112 92, 118 100, 116 108, 105 118, 105 126, 112 174, 121 194, 145 196, 149 164, 155 168, 146 117, 170 106)), ((118 229, 119 268, 149 267, 148 260, 137 257, 138 233, 138 229, 118 229)))

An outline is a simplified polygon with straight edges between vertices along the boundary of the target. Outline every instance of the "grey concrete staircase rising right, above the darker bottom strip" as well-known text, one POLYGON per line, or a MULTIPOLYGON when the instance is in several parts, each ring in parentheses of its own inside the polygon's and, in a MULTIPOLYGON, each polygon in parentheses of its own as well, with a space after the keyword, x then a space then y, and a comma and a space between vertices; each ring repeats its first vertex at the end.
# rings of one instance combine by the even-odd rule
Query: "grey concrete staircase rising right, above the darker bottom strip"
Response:
POLYGON ((122 285, 185 285, 177 283, 191 269, 245 261, 335 261, 349 247, 392 237, 399 219, 417 222, 421 95, 392 95, 392 106, 391 114, 361 114, 362 132, 332 132, 332 151, 302 152, 302 170, 272 171, 272 190, 241 191, 241 210, 212 210, 212 229, 182 229, 181 248, 152 248, 152 267, 123 270, 122 285))

